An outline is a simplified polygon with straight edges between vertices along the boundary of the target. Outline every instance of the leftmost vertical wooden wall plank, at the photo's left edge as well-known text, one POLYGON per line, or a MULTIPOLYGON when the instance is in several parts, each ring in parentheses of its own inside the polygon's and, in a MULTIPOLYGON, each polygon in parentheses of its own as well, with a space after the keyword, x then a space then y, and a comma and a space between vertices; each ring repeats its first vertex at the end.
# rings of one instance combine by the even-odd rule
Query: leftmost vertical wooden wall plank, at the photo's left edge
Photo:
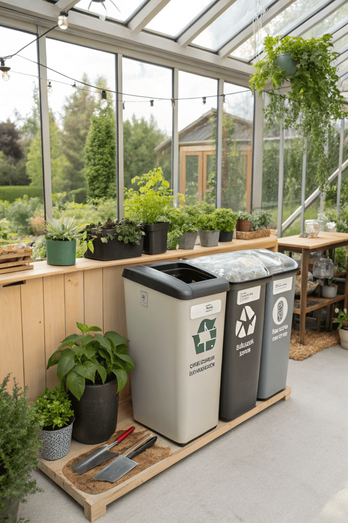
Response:
POLYGON ((0 380, 11 372, 8 389, 13 378, 24 388, 22 318, 20 309, 20 286, 0 287, 0 380))

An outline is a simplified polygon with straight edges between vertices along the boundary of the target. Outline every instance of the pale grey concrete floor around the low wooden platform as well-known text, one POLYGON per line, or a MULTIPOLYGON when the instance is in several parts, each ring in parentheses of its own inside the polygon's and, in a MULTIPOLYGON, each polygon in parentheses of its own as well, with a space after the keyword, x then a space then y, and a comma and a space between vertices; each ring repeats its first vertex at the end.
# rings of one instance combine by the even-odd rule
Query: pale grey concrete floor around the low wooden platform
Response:
MULTIPOLYGON (((348 351, 289 362, 280 401, 106 509, 100 523, 348 523, 348 351)), ((20 505, 31 523, 80 523, 82 507, 42 472, 20 505)))

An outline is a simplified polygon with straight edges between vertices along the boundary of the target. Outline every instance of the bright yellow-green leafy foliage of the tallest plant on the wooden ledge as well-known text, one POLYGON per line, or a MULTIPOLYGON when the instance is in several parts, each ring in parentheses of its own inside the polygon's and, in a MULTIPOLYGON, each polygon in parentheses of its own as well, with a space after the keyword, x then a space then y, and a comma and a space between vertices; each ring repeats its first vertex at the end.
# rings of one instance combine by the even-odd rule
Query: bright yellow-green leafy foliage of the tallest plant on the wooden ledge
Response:
MULTIPOLYGON (((139 180, 138 191, 133 188, 125 189, 125 215, 141 223, 157 223, 167 209, 173 207, 173 189, 170 189, 169 181, 164 178, 161 167, 136 176, 131 180, 132 184, 136 180, 139 180)), ((185 201, 182 194, 178 194, 177 198, 185 201)))

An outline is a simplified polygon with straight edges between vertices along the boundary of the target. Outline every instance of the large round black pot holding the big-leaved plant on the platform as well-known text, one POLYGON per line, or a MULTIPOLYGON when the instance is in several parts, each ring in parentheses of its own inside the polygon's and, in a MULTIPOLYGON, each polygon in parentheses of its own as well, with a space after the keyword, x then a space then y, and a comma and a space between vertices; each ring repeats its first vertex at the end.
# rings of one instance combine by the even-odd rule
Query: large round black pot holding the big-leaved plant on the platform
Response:
POLYGON ((112 436, 117 425, 117 380, 104 385, 86 384, 80 401, 69 393, 74 410, 73 438, 86 445, 97 445, 112 436))

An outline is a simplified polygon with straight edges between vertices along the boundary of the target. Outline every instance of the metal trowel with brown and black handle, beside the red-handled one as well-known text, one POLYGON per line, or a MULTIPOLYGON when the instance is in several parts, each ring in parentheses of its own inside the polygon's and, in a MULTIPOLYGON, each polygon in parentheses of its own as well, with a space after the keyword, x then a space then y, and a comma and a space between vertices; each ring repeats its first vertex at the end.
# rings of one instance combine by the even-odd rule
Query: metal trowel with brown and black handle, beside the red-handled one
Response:
POLYGON ((126 452, 121 454, 121 456, 118 456, 118 458, 116 458, 112 463, 106 465, 106 467, 98 472, 98 474, 95 474, 93 479, 99 481, 110 481, 110 483, 114 483, 115 481, 119 480, 120 477, 124 476, 127 474, 127 472, 131 471, 134 469, 134 467, 137 466, 138 463, 132 461, 131 458, 134 458, 140 454, 140 452, 143 452, 144 450, 151 447, 151 445, 153 445, 156 440, 157 436, 148 434, 135 445, 133 445, 133 447, 130 447, 128 450, 126 450, 126 452))

